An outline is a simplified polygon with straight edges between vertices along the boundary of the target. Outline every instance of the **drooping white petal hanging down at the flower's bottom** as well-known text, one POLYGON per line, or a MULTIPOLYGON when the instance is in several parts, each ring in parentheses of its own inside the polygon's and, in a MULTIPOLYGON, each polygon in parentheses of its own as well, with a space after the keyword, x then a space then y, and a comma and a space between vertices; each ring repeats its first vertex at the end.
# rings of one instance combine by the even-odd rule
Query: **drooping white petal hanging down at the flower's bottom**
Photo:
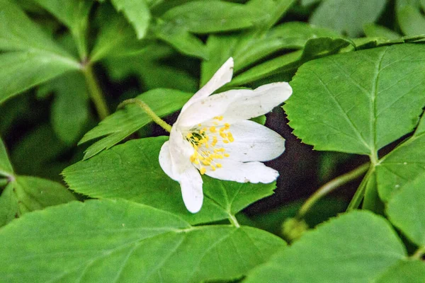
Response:
POLYGON ((181 196, 189 212, 199 212, 203 203, 202 178, 198 169, 191 166, 180 175, 181 196))

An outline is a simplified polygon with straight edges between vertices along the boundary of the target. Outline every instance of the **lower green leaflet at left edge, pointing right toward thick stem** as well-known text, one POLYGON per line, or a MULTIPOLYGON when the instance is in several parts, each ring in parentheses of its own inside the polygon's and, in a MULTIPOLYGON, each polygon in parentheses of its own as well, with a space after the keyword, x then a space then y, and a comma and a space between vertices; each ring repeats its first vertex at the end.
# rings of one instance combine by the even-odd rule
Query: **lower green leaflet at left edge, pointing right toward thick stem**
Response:
POLYGON ((79 69, 77 62, 52 53, 13 51, 0 54, 0 103, 64 74, 79 69))

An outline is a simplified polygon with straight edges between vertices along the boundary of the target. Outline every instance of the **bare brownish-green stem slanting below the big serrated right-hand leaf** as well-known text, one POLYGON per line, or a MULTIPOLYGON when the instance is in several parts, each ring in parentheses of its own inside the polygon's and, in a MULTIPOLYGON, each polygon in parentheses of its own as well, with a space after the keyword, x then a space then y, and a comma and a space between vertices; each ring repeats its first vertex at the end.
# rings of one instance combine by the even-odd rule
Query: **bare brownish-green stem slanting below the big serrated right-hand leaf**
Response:
POLYGON ((310 208, 318 200, 320 200, 324 195, 329 194, 329 192, 332 192, 337 187, 340 187, 341 185, 351 182, 352 180, 355 180, 356 178, 363 175, 363 173, 365 173, 368 170, 369 166, 370 166, 369 163, 365 163, 362 166, 359 166, 358 168, 354 169, 353 171, 345 173, 344 175, 340 175, 334 180, 331 180, 328 183, 322 185, 322 187, 319 187, 319 190, 314 192, 314 194, 311 197, 309 197, 304 204, 302 204, 302 207, 298 211, 297 217, 300 219, 303 216, 305 216, 305 214, 310 210, 310 208))

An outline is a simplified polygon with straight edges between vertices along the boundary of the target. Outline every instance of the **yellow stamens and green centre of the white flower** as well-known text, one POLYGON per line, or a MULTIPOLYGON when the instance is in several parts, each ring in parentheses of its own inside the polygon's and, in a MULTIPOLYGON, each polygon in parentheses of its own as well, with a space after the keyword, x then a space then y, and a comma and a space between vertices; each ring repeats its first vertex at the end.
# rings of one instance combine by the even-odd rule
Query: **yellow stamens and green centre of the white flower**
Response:
POLYGON ((222 116, 214 117, 213 126, 203 127, 203 125, 198 124, 197 127, 190 129, 185 136, 194 149, 191 162, 199 169, 201 174, 205 174, 207 171, 205 166, 209 166, 212 171, 222 168, 222 164, 218 161, 229 157, 229 154, 220 144, 229 144, 234 139, 229 130, 229 123, 220 122, 222 120, 222 116))

